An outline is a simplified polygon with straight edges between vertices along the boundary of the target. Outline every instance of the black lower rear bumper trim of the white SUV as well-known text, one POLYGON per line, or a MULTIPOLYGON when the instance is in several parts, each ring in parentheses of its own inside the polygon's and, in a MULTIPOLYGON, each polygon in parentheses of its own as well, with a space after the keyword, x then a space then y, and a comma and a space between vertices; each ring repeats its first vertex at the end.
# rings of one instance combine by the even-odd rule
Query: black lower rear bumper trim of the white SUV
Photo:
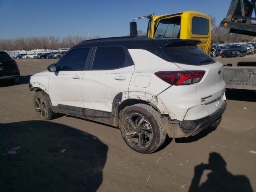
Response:
POLYGON ((216 110, 209 116, 197 120, 183 120, 180 123, 180 128, 182 132, 186 134, 186 137, 198 134, 200 131, 208 128, 211 124, 218 121, 222 114, 224 113, 224 111, 226 110, 226 106, 227 103, 225 100, 223 104, 220 106, 220 108, 218 108, 218 110, 216 110))

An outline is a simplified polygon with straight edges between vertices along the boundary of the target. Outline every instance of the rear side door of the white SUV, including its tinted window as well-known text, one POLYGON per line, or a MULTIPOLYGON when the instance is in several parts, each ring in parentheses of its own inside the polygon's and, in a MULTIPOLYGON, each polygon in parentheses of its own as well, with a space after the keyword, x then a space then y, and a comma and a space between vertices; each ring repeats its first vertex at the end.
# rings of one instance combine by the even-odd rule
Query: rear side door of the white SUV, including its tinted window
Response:
POLYGON ((122 46, 99 46, 92 55, 90 69, 83 76, 84 108, 112 112, 114 98, 128 92, 134 64, 122 46))

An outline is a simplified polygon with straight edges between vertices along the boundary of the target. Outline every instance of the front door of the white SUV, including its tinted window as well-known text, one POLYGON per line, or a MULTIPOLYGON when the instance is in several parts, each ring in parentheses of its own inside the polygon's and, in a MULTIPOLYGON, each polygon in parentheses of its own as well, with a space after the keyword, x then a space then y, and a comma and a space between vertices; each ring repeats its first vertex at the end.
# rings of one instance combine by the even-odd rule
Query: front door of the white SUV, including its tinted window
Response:
POLYGON ((82 79, 90 53, 91 48, 73 49, 57 62, 58 71, 52 72, 49 79, 49 96, 53 106, 83 108, 82 79))

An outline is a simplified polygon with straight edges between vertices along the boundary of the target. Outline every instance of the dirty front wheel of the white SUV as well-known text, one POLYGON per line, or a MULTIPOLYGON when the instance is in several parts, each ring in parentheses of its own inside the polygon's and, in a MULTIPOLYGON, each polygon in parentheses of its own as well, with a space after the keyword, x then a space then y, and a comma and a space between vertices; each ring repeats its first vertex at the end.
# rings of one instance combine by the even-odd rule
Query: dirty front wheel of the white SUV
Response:
POLYGON ((44 92, 38 91, 35 93, 33 104, 39 118, 44 120, 52 119, 54 112, 52 111, 48 98, 44 92))

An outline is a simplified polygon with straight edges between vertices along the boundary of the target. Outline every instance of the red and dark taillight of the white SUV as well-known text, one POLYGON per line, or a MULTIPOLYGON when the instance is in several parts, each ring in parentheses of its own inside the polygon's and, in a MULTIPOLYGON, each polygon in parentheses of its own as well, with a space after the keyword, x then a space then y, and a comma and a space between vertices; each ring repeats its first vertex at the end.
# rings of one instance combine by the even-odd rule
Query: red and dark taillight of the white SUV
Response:
POLYGON ((171 85, 190 85, 200 82, 205 71, 159 71, 155 75, 171 85))

